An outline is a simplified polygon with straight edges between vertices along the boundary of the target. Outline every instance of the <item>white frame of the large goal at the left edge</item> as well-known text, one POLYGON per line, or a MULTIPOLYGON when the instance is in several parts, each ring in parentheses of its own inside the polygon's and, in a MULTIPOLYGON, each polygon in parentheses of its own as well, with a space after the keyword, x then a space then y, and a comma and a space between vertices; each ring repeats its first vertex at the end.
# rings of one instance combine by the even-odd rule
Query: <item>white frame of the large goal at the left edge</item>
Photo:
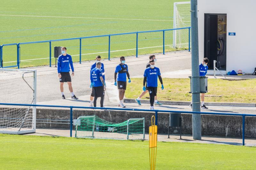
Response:
MULTIPOLYGON (((22 72, 34 72, 34 83, 33 83, 33 105, 36 105, 36 70, 27 70, 27 69, 2 69, 0 68, 0 71, 22 71, 22 72)), ((25 80, 24 80, 25 81, 25 80)), ((26 81, 25 81, 26 82, 26 81)), ((26 82, 27 83, 27 82, 26 82)), ((28 83, 27 83, 28 84, 28 83)), ((31 88, 31 87, 30 87, 31 88)), ((19 103, 12 103, 12 104, 19 104, 19 103)), ((30 103, 29 103, 30 104, 30 103)), ((8 106, 10 107, 10 105, 0 105, 0 106, 8 106)), ((14 107, 19 107, 19 106, 15 106, 14 107)), ((28 129, 28 130, 16 130, 16 131, 11 131, 11 130, 1 130, 0 128, 0 134, 26 134, 26 133, 35 133, 36 132, 36 106, 32 106, 33 107, 33 117, 32 117, 32 128, 28 129)))

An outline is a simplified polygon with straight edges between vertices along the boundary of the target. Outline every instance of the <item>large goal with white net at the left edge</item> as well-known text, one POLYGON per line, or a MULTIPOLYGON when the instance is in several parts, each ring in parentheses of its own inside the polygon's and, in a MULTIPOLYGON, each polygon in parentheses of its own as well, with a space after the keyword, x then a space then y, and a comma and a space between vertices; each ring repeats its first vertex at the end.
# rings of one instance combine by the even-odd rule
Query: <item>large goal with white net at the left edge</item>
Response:
MULTIPOLYGON (((0 103, 36 104, 36 70, 0 69, 0 103)), ((0 133, 36 132, 36 107, 0 105, 0 133)))

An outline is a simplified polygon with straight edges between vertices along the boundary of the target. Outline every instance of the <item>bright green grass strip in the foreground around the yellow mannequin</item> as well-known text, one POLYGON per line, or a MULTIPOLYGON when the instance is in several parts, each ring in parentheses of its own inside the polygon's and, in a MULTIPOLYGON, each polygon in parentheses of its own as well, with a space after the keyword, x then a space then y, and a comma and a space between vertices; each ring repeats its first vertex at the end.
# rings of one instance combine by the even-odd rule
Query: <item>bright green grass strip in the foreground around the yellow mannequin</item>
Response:
MULTIPOLYGON (((149 169, 148 141, 0 135, 1 169, 149 169)), ((156 169, 254 169, 255 147, 157 143, 156 169)))

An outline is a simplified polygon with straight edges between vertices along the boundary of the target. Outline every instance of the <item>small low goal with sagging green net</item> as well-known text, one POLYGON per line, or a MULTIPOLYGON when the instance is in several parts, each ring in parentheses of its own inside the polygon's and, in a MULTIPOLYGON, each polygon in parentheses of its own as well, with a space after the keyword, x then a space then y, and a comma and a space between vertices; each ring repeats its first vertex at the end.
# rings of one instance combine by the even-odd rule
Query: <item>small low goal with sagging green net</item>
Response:
POLYGON ((145 118, 111 123, 98 116, 80 116, 76 120, 76 137, 103 139, 145 139, 145 118))

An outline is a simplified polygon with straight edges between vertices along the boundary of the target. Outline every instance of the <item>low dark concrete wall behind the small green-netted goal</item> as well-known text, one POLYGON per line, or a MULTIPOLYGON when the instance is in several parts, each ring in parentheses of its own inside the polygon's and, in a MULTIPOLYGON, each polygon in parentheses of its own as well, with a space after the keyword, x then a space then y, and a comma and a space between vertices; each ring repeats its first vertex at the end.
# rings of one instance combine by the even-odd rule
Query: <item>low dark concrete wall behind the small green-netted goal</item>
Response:
MULTIPOLYGON (((51 120, 69 120, 69 110, 60 109, 37 109, 37 119, 51 120)), ((146 132, 151 125, 151 116, 153 113, 148 112, 124 112, 124 111, 103 111, 103 110, 74 110, 74 119, 79 116, 97 115, 100 118, 120 123, 130 118, 145 117, 146 132)), ((167 113, 158 114, 158 133, 167 134, 168 129, 167 113)), ((182 134, 192 135, 192 115, 181 114, 182 117, 182 134)), ((222 116, 222 115, 202 115, 202 135, 203 136, 219 136, 219 137, 242 137, 242 117, 241 116, 222 116)), ((37 121, 39 122, 39 121, 37 121)), ((40 121, 42 122, 42 121, 40 121)), ((50 121, 51 122, 51 121, 50 121)), ((67 122, 65 122, 67 123, 67 122)), ((37 123, 36 128, 55 128, 69 129, 69 124, 53 124, 53 123, 37 123)), ((172 131, 173 133, 173 131, 172 131)), ((174 133, 179 133, 174 130, 174 133)), ((256 117, 245 118, 245 137, 256 138, 256 117)))

